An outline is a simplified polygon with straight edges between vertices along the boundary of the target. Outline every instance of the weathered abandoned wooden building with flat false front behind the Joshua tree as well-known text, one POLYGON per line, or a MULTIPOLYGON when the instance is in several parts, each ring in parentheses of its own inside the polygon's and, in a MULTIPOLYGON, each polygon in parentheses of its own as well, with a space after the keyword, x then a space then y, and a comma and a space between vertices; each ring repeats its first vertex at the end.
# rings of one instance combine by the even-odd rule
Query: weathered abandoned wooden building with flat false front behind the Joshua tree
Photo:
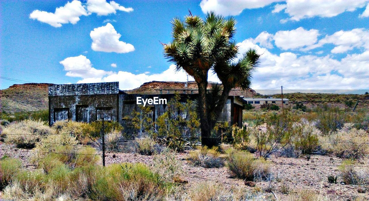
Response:
MULTIPOLYGON (((210 84, 209 84, 210 87, 210 84)), ((49 86, 49 125, 55 121, 71 120, 93 122, 96 120, 117 121, 123 125, 133 118, 133 111, 139 111, 137 97, 166 98, 168 101, 180 94, 181 102, 197 97, 195 82, 148 82, 134 90, 119 90, 118 82, 88 84, 55 84, 49 86)), ((253 90, 232 89, 220 115, 220 121, 229 125, 242 125, 244 96, 253 90)), ((153 121, 166 111, 165 104, 146 104, 152 108, 153 121)))

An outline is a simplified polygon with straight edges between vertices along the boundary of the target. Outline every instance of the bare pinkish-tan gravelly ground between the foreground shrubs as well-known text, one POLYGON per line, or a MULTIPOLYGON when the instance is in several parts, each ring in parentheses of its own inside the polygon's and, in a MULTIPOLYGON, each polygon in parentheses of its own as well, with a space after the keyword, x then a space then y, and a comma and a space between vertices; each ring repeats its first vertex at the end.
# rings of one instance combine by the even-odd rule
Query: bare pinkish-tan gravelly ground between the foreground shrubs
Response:
MULTIPOLYGON (((23 166, 29 170, 35 169, 31 164, 32 150, 19 149, 14 145, 0 142, 0 157, 4 155, 21 159, 23 166)), ((227 167, 222 168, 204 168, 194 167, 189 163, 187 157, 189 151, 177 153, 177 159, 183 167, 183 177, 189 182, 184 184, 184 188, 190 188, 193 184, 201 181, 213 181, 223 184, 225 187, 245 186, 241 179, 232 178, 227 167)), ((101 154, 101 151, 97 153, 101 154)), ((149 166, 153 163, 154 156, 140 155, 138 153, 106 153, 106 165, 113 163, 145 163, 149 166), (115 158, 113 155, 115 154, 115 158)), ((301 158, 287 158, 272 156, 268 159, 272 162, 272 171, 275 179, 272 181, 256 182, 256 187, 247 187, 251 190, 260 190, 265 194, 270 194, 266 189, 272 187, 273 192, 279 198, 284 200, 286 197, 281 191, 281 186, 288 186, 289 191, 313 190, 320 193, 330 200, 355 200, 356 197, 362 196, 369 200, 369 191, 366 193, 358 193, 358 186, 342 185, 340 178, 338 184, 329 184, 328 176, 338 175, 338 165, 341 159, 331 156, 314 155, 309 161, 301 158)), ((100 162, 101 163, 101 162, 100 162)), ((367 187, 368 189, 368 187, 367 187)))

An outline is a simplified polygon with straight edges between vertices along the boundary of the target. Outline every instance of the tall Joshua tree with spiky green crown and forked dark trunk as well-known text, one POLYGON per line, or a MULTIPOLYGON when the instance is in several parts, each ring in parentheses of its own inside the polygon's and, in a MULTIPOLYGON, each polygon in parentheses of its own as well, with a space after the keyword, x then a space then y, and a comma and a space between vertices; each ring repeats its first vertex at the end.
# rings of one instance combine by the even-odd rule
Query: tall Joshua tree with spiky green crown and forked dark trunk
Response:
POLYGON ((173 41, 163 44, 164 55, 176 64, 177 70, 183 69, 197 83, 201 144, 211 147, 214 141, 206 137, 210 137, 230 90, 250 87, 260 55, 249 49, 237 60, 238 46, 232 40, 236 32, 234 18, 224 19, 211 12, 203 20, 190 13, 184 21, 175 18, 172 24, 173 41), (209 70, 217 74, 222 88, 207 90, 209 70))

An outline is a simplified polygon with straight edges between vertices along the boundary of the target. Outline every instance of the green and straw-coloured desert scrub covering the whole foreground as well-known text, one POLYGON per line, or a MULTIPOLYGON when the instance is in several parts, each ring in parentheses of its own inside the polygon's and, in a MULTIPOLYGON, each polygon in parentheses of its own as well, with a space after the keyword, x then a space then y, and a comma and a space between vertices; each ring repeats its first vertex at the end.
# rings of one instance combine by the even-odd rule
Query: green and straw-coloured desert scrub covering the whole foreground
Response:
MULTIPOLYGON (((353 186, 355 193, 366 192, 368 110, 303 106, 290 104, 283 111, 251 108, 244 111, 241 128, 218 122, 211 135, 217 146, 208 148, 198 146, 196 112, 186 116, 177 112, 193 112, 195 105, 180 104, 177 97, 158 122, 137 117, 132 124, 137 128, 135 136, 124 134, 117 122, 105 122, 108 155, 124 154, 119 160, 108 158, 106 167, 101 166, 101 122, 60 121, 48 127, 41 120, 3 120, 0 146, 27 149, 31 156, 25 162, 1 152, 1 196, 18 200, 261 200, 265 196, 334 200, 338 195, 330 193, 330 186, 342 184, 353 186), (179 125, 186 127, 178 129, 179 125), (127 156, 134 160, 125 160, 127 156), (141 158, 149 161, 139 162, 141 158), (318 159, 327 162, 316 164, 318 159), (306 166, 310 163, 313 167, 306 166), (320 166, 335 171, 314 176, 321 182, 315 188, 295 188, 287 167, 299 176, 301 168, 296 166, 306 166, 308 172, 320 166), (194 179, 199 177, 193 173, 197 171, 208 171, 210 178, 216 173, 230 183, 194 179), (281 176, 281 171, 287 172, 281 176)), ((145 115, 145 110, 137 115, 145 115)), ((352 198, 367 199, 361 194, 352 198)))

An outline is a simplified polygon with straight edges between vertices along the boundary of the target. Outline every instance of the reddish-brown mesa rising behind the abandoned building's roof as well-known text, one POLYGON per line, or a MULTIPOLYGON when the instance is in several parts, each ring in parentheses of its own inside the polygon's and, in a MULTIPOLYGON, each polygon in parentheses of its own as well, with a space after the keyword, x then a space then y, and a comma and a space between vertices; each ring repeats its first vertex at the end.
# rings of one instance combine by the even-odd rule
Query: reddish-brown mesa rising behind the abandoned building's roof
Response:
MULTIPOLYGON (((213 82, 208 83, 207 89, 211 88, 213 82)), ((142 84, 140 87, 125 91, 128 94, 197 94, 199 93, 196 82, 161 82, 152 81, 142 84), (187 85, 187 86, 186 86, 187 85)), ((252 89, 241 90, 239 87, 230 91, 229 96, 255 96, 256 92, 252 89)))

